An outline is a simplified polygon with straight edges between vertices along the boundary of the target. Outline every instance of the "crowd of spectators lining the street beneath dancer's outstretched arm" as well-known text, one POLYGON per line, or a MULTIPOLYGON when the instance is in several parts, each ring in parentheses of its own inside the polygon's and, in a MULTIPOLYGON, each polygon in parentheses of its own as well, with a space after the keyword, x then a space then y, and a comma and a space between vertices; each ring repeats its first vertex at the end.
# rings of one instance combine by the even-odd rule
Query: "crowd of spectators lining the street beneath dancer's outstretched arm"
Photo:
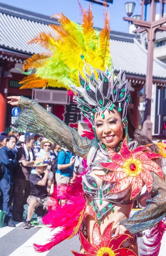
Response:
POLYGON ((30 228, 37 207, 47 209, 54 184, 69 183, 83 170, 81 158, 46 138, 29 132, 1 132, 0 210, 5 212, 4 223, 15 227, 14 221, 23 221, 24 216, 24 228, 30 228))

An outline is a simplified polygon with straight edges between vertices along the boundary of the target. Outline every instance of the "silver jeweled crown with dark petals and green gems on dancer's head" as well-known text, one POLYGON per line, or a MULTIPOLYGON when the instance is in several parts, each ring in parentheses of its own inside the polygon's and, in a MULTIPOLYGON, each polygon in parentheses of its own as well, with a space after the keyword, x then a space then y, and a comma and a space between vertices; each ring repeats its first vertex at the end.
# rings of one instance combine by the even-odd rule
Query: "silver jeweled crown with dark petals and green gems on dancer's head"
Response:
POLYGON ((94 113, 104 111, 119 111, 122 116, 122 122, 127 125, 127 108, 129 105, 130 93, 127 86, 125 70, 120 70, 117 77, 114 77, 114 68, 106 68, 106 71, 93 68, 89 64, 83 67, 85 79, 79 73, 80 87, 71 85, 70 88, 75 92, 73 96, 77 107, 83 112, 83 115, 89 119, 94 126, 94 113))

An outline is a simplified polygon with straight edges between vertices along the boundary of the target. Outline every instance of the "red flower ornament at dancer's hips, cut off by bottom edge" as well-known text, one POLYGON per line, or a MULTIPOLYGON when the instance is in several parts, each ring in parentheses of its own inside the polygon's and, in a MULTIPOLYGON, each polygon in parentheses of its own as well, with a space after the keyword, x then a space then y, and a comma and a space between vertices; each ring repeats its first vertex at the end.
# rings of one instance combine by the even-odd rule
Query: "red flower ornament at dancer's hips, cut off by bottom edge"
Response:
POLYGON ((89 243, 85 236, 83 236, 83 233, 80 232, 80 242, 86 253, 72 251, 74 256, 136 256, 132 250, 123 248, 122 246, 123 242, 132 238, 131 236, 122 234, 112 238, 111 230, 113 223, 114 222, 108 224, 102 236, 99 233, 98 224, 95 223, 92 233, 92 244, 89 243))

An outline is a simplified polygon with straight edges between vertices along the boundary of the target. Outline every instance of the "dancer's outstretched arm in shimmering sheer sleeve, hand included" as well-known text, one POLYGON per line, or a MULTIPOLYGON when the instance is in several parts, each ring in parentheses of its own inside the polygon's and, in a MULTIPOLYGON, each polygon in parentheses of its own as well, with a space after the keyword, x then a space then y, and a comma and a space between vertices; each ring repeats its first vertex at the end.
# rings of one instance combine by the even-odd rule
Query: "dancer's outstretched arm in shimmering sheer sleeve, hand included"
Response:
POLYGON ((17 128, 46 137, 79 156, 83 157, 88 153, 93 141, 81 137, 75 129, 68 127, 37 102, 23 96, 12 96, 8 99, 9 104, 18 105, 21 110, 20 116, 14 123, 17 128))

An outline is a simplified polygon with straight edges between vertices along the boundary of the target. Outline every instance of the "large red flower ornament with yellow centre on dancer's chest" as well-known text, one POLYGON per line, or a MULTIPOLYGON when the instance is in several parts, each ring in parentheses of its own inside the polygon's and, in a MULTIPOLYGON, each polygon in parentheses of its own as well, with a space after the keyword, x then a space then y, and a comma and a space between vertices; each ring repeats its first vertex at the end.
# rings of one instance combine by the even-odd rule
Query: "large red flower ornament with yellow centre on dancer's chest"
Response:
POLYGON ((162 156, 151 151, 144 151, 150 145, 139 146, 130 151, 126 137, 120 147, 120 154, 107 147, 112 162, 100 164, 103 168, 109 169, 112 172, 109 172, 107 175, 97 176, 102 180, 117 182, 114 189, 109 191, 109 193, 121 192, 131 185, 132 193, 130 200, 133 200, 140 193, 143 181, 148 192, 152 190, 153 180, 150 172, 155 172, 164 180, 163 171, 160 166, 151 160, 153 158, 161 158, 162 156))

